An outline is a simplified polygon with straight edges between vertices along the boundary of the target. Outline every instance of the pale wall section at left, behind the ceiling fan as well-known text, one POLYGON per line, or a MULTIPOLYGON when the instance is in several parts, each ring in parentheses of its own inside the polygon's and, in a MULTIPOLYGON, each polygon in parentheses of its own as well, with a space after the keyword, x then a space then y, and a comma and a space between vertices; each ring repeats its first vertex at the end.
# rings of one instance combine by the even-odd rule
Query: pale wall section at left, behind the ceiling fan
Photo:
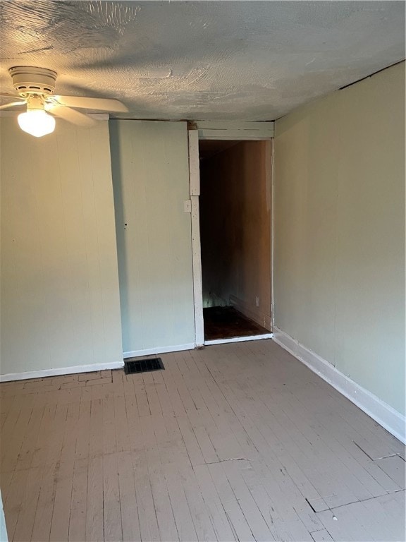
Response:
POLYGON ((1 373, 121 361, 107 122, 0 130, 1 373))

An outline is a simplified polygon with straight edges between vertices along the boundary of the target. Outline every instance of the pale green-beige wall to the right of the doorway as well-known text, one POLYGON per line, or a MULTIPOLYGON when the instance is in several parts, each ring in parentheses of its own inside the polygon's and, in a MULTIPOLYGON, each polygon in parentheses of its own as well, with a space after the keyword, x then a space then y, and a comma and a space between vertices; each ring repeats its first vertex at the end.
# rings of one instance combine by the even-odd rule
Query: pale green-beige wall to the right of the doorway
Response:
POLYGON ((275 325, 405 411, 405 64, 276 122, 275 325))

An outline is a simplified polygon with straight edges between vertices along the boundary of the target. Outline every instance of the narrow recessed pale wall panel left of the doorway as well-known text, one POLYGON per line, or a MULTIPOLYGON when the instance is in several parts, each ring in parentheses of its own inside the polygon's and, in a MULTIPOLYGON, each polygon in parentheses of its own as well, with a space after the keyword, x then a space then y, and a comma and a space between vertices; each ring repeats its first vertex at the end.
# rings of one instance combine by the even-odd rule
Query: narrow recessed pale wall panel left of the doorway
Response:
POLYGON ((111 121, 123 349, 192 347, 187 124, 111 121))

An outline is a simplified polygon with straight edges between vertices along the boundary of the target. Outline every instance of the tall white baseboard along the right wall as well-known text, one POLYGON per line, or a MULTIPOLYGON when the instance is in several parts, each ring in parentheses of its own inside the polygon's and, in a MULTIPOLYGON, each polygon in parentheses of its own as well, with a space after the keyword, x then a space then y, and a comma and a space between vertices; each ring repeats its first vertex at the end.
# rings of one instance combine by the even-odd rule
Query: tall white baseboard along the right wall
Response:
POLYGON ((331 363, 314 354, 287 333, 273 326, 273 340, 295 358, 305 363, 309 369, 326 380, 328 384, 342 393, 347 399, 359 406, 383 428, 401 442, 406 443, 406 418, 379 397, 340 373, 331 363))

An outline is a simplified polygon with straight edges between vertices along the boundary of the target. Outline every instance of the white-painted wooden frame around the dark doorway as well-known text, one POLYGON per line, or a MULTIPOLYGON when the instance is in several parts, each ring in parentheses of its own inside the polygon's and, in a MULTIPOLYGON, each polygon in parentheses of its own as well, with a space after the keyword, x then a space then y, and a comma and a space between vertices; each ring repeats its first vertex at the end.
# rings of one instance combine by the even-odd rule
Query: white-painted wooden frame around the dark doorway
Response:
MULTIPOLYGON (((193 297, 195 303, 195 346, 204 345, 202 253, 199 223, 199 139, 217 140, 270 140, 273 138, 273 122, 196 121, 187 129, 189 139, 189 179, 192 207, 192 269, 193 297)), ((273 164, 273 161, 272 161, 273 164)), ((272 198, 273 203, 273 198, 272 198)), ((273 213, 271 217, 273 221, 273 213)), ((273 228, 272 228, 273 230, 273 228)), ((273 236, 272 236, 273 238, 273 236)), ((272 251, 272 248, 271 248, 272 251)), ((273 258, 272 258, 273 265, 273 258)), ((273 276, 273 272, 272 272, 273 276)), ((272 301, 273 302, 273 301, 272 301)), ((257 338, 263 338, 259 336, 257 338)), ((245 338, 244 338, 245 339, 245 338)), ((235 339, 233 339, 235 340, 235 339)), ((242 339, 240 339, 242 340, 242 339)), ((245 339, 246 340, 246 339, 245 339)), ((224 341, 221 341, 224 342, 224 341)))

